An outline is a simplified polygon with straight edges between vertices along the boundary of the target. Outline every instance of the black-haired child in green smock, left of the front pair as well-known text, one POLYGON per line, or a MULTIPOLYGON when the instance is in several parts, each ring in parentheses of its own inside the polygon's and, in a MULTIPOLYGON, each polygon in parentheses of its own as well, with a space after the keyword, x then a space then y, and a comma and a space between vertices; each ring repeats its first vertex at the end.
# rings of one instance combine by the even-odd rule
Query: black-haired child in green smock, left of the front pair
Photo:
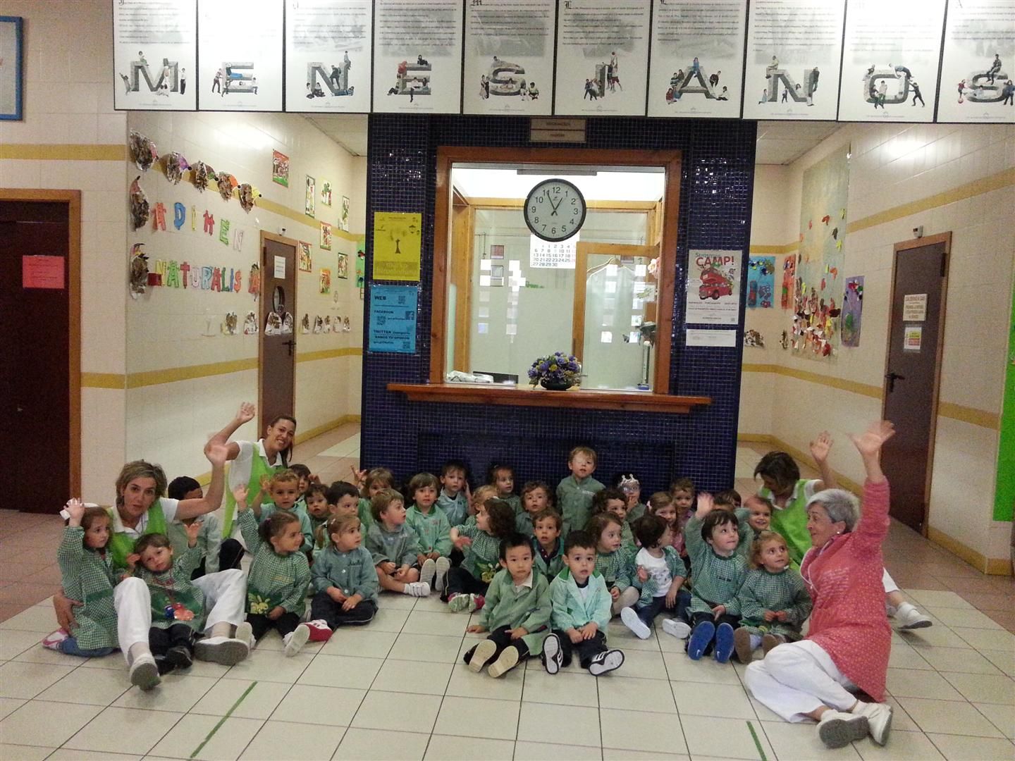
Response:
POLYGON ((509 534, 500 543, 501 570, 493 575, 479 623, 466 631, 490 632, 465 653, 465 663, 477 674, 500 677, 542 650, 550 624, 550 582, 533 570, 532 545, 523 534, 509 534), (494 661, 494 659, 496 659, 494 661))

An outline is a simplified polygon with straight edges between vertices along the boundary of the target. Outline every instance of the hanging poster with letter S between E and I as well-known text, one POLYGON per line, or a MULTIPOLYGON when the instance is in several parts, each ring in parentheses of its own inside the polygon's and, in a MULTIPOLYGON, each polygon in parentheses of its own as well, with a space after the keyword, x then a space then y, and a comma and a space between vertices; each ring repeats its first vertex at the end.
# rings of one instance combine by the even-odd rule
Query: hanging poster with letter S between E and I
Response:
POLYGON ((465 11, 466 114, 553 112, 554 0, 470 3, 465 11))

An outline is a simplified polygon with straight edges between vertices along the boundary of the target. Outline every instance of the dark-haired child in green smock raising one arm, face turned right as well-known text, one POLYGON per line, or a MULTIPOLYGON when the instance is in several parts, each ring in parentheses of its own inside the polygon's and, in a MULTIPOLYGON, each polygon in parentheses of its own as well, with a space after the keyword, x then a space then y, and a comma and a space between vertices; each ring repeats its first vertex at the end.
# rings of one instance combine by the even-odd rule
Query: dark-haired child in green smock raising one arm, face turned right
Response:
POLYGON ((254 556, 247 576, 247 622, 254 642, 275 629, 286 656, 295 655, 311 636, 310 627, 299 623, 311 580, 307 555, 299 551, 303 544, 299 518, 292 510, 280 509, 259 527, 254 511, 247 509, 247 485, 233 489, 232 496, 240 533, 254 556))

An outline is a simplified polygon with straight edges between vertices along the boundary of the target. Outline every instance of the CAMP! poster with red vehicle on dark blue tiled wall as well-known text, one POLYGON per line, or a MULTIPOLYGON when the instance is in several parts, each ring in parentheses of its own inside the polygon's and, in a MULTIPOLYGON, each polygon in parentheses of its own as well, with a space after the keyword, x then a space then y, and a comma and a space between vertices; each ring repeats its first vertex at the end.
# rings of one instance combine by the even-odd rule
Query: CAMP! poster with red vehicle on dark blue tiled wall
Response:
POLYGON ((687 261, 685 322, 736 325, 740 314, 739 251, 691 251, 687 261))

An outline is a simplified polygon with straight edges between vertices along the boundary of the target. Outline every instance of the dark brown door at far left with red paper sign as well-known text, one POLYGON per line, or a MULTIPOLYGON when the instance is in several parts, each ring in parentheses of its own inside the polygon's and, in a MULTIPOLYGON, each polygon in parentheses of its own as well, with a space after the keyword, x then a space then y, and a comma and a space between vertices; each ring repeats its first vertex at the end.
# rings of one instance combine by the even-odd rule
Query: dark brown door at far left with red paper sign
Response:
POLYGON ((71 219, 70 201, 0 200, 0 448, 7 472, 18 474, 5 506, 27 512, 55 512, 80 489, 71 219))

